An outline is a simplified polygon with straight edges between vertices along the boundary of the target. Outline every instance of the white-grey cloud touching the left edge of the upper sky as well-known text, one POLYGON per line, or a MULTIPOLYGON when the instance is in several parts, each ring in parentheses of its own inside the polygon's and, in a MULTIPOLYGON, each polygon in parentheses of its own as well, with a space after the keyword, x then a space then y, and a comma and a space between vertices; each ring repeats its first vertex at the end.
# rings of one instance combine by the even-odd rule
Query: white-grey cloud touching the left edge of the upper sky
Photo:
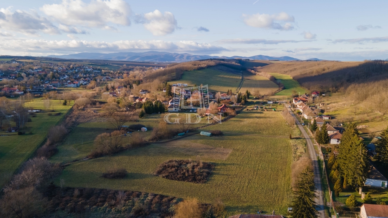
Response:
POLYGON ((0 28, 23 33, 24 35, 36 35, 38 32, 59 34, 59 30, 47 18, 41 17, 34 11, 31 13, 10 8, 0 9, 0 28))

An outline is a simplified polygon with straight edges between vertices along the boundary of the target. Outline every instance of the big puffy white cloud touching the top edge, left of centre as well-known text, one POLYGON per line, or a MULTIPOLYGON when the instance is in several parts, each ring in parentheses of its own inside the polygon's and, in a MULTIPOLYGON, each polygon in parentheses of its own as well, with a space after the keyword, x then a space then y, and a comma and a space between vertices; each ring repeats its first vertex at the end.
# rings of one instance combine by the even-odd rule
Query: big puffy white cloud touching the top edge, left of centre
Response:
POLYGON ((123 0, 62 0, 60 4, 45 4, 40 10, 67 26, 104 28, 111 23, 130 26, 131 8, 123 0))

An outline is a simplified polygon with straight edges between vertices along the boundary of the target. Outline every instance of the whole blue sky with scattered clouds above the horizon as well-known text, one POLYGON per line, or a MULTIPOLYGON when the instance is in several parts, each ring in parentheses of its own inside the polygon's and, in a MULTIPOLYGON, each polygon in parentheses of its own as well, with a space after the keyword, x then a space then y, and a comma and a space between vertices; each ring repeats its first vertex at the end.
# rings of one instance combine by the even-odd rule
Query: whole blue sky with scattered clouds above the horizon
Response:
POLYGON ((161 52, 388 59, 388 1, 12 0, 0 55, 161 52))

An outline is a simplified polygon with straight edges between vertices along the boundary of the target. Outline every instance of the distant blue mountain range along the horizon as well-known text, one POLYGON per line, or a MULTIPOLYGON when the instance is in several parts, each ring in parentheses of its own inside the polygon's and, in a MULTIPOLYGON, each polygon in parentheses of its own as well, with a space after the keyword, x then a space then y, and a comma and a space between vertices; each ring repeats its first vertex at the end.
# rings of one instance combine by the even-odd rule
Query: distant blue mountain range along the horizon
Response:
MULTIPOLYGON (((69 55, 49 55, 47 57, 56 57, 63 59, 97 59, 97 60, 114 60, 114 61, 146 61, 146 62, 186 62, 186 61, 197 61, 202 59, 210 58, 225 58, 225 59, 251 59, 251 60, 279 60, 279 61, 300 61, 293 57, 283 56, 283 57, 271 57, 266 55, 255 55, 251 57, 241 57, 241 56, 210 56, 210 55, 192 55, 192 54, 178 54, 170 52, 117 52, 117 53, 87 53, 82 52, 78 54, 69 54, 69 55)), ((308 59, 309 61, 320 61, 320 59, 312 58, 308 59)))

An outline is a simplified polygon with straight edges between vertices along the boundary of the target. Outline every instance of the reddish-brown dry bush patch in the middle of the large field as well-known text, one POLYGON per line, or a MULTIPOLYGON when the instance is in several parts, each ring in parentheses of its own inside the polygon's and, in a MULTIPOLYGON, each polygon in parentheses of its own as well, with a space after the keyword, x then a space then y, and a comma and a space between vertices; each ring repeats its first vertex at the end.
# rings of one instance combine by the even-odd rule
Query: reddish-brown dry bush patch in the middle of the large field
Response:
POLYGON ((154 175, 170 180, 205 183, 214 164, 192 160, 168 160, 156 168, 154 175))

